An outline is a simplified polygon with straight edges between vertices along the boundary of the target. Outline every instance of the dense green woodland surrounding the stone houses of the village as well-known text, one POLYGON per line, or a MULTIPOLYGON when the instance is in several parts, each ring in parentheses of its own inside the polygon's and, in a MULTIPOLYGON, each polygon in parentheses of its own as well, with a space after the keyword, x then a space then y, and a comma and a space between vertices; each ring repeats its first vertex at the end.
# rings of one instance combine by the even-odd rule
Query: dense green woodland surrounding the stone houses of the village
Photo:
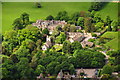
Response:
MULTIPOLYGON (((117 31, 120 26, 118 21, 111 20, 109 16, 102 20, 100 14, 94 11, 100 9, 100 6, 103 5, 94 3, 90 12, 80 11, 71 16, 68 16, 66 11, 58 12, 56 17, 48 15, 46 20, 68 22, 63 28, 57 26, 52 35, 47 28, 41 30, 31 26, 32 21, 29 20, 28 13, 21 14, 14 20, 13 30, 0 35, 2 36, 2 77, 5 80, 8 78, 34 80, 40 73, 44 73, 44 76, 46 74, 56 76, 61 69, 70 70, 70 74, 75 74, 77 68, 103 68, 101 74, 108 74, 107 77, 110 77, 113 71, 119 72, 120 51, 108 51, 109 64, 105 65, 105 56, 98 52, 99 49, 82 48, 79 42, 70 43, 66 40, 66 32, 82 32, 76 30, 75 26, 81 26, 90 33, 117 31), (94 5, 99 6, 95 8, 94 5), (42 51, 41 46, 45 43, 47 35, 52 36, 54 43, 63 44, 62 49, 56 51, 52 47, 42 51)), ((102 38, 98 41, 99 44, 104 43, 102 38)))

